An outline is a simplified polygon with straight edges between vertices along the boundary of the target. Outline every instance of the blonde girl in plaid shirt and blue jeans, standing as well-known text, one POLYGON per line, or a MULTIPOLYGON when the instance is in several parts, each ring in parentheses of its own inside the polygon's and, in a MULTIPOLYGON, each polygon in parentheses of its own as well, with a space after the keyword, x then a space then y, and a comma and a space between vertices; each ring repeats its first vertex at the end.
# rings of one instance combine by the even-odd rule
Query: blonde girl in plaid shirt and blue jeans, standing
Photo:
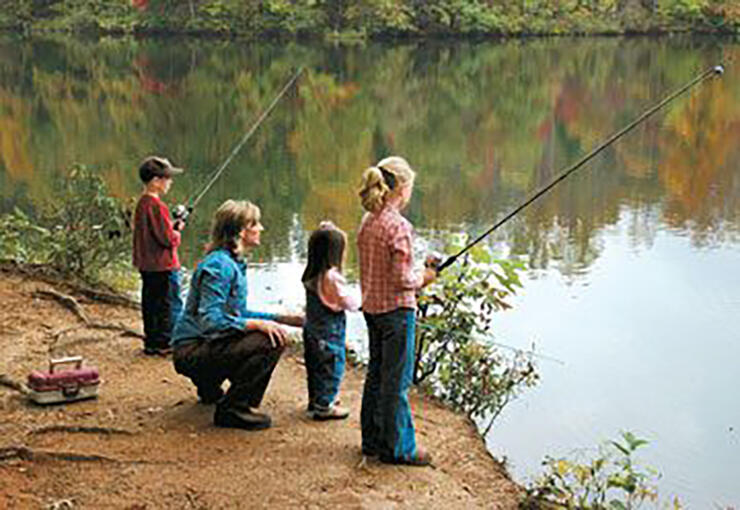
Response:
POLYGON ((360 198, 367 211, 357 234, 362 310, 370 361, 362 395, 362 452, 390 464, 429 465, 416 445, 408 390, 413 379, 416 292, 436 278, 434 269, 413 270, 414 229, 401 215, 415 173, 391 156, 362 175, 360 198))

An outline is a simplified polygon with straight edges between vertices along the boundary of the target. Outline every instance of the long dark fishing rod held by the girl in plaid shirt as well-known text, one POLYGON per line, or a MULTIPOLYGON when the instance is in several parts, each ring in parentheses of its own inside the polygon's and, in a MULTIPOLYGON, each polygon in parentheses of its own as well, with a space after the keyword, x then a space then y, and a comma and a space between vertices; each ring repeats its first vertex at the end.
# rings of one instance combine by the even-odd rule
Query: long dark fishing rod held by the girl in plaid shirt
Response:
POLYGON ((583 156, 580 160, 578 160, 576 163, 568 167, 565 171, 563 171, 558 177, 556 177, 550 184, 546 185, 539 191, 535 192, 530 198, 524 201, 521 205, 519 205, 516 209, 511 211, 509 214, 504 216, 502 219, 497 221, 491 228, 483 232, 481 235, 479 235, 475 240, 468 243, 467 246, 465 246, 462 250, 457 252, 456 254, 450 256, 445 260, 443 263, 439 264, 436 267, 437 273, 441 273, 444 269, 449 267, 451 264, 453 264, 460 256, 465 254, 468 250, 470 250, 473 246, 481 242, 483 239, 488 237, 494 230, 499 228, 501 225, 509 221, 511 218, 519 214, 519 212, 522 211, 525 207, 530 205, 532 202, 540 198, 542 195, 550 191, 552 188, 558 185, 563 179, 571 175, 573 172, 581 168, 583 165, 588 163, 591 159, 593 159, 597 154, 599 154, 601 151, 609 147, 611 144, 619 140, 622 136, 629 133, 634 129, 636 126, 641 124, 645 119, 653 115, 655 112, 663 108, 665 105, 676 99, 677 97, 683 95, 686 91, 691 89, 692 87, 698 85, 699 83, 703 82, 707 78, 711 76, 721 76, 725 72, 725 68, 722 65, 717 65, 712 67, 711 69, 707 69, 703 73, 701 73, 699 76, 688 82, 686 85, 678 89, 677 91, 673 92, 669 96, 667 96, 665 99, 657 103, 655 106, 651 107, 647 111, 645 111, 642 115, 637 117, 635 120, 627 124, 625 127, 611 135, 609 138, 607 138, 604 142, 601 143, 598 147, 593 149, 591 152, 583 156))

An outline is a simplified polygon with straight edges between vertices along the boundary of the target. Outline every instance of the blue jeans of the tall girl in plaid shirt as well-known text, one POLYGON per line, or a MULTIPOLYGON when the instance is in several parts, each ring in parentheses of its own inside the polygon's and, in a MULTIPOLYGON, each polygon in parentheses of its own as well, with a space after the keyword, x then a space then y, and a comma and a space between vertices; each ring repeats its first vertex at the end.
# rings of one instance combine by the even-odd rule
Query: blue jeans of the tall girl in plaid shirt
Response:
POLYGON ((416 455, 408 390, 413 380, 416 314, 399 308, 365 314, 370 362, 362 393, 362 451, 399 459, 416 455))

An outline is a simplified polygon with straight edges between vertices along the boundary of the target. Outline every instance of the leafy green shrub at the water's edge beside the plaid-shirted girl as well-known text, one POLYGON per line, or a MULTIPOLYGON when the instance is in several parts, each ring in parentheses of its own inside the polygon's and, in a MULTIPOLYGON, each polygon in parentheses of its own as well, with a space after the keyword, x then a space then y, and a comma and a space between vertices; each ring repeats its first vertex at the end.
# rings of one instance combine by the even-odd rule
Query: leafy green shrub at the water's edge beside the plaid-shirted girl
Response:
MULTIPOLYGON (((457 251, 460 246, 450 246, 457 251)), ((532 352, 504 355, 491 323, 521 287, 521 263, 495 259, 478 245, 444 271, 419 303, 415 381, 454 409, 482 421, 486 435, 503 408, 539 379, 532 352)))

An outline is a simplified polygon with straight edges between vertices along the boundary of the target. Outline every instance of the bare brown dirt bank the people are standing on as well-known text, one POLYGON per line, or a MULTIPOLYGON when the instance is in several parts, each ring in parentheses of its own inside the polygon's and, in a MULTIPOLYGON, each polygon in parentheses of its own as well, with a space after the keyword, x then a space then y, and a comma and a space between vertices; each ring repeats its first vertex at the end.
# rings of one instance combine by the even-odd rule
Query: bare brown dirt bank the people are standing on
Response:
MULTIPOLYGON (((342 388, 349 420, 306 419, 296 356, 280 362, 263 403, 271 429, 217 429, 213 407, 197 403, 170 360, 143 356, 140 340, 78 329, 53 342, 82 323, 34 297, 48 288, 0 272, 0 374, 24 381, 53 346, 55 356, 83 355, 104 382, 97 400, 47 407, 0 386, 0 508, 516 508, 515 485, 471 424, 427 399, 413 395, 433 468, 362 463, 361 369, 349 369, 342 388), (41 430, 53 425, 78 430, 41 430), (10 446, 27 450, 2 450, 10 446)), ((134 310, 78 299, 92 320, 140 327, 134 310)))

